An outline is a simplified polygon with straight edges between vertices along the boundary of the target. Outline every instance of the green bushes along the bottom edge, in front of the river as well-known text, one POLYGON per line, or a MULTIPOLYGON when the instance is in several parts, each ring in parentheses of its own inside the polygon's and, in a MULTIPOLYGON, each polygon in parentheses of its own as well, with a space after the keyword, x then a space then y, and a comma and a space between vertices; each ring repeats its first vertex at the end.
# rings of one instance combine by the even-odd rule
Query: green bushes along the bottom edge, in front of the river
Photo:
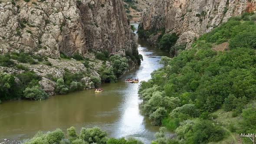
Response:
POLYGON ((108 138, 107 133, 98 127, 82 128, 80 134, 76 134, 75 128, 67 129, 68 139, 64 139, 64 132, 60 129, 43 133, 39 131, 33 138, 26 140, 24 144, 143 144, 135 138, 108 138))

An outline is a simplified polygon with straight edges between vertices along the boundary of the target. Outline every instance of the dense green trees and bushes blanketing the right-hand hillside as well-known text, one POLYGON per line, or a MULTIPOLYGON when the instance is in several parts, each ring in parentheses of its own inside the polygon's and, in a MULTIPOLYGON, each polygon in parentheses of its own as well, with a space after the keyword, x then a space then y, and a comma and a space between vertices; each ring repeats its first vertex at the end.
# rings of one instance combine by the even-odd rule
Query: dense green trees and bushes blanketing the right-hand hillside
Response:
POLYGON ((141 107, 152 124, 176 129, 185 144, 219 141, 223 129, 212 121, 211 112, 224 108, 233 117, 243 111, 248 124, 243 131, 256 130, 249 123, 255 121, 255 107, 243 110, 256 97, 256 24, 240 20, 232 18, 200 36, 192 49, 173 59, 161 58, 164 67, 139 89, 141 107), (229 43, 229 51, 212 49, 223 42, 229 43))

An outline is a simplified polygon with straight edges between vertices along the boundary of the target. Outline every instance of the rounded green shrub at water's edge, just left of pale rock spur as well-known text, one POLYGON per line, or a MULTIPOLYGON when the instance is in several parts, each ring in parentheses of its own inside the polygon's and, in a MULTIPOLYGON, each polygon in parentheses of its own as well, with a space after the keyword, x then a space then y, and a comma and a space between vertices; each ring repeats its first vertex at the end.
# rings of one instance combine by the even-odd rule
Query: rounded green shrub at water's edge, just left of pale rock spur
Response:
POLYGON ((39 86, 33 86, 32 88, 26 88, 24 92, 25 98, 41 101, 48 98, 46 92, 39 86))

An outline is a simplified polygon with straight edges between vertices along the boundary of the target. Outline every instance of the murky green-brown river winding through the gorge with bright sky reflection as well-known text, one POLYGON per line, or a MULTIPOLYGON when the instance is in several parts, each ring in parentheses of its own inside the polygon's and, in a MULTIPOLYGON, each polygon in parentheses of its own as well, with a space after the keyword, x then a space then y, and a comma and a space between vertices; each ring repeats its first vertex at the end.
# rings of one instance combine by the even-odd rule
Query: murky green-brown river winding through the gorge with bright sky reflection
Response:
MULTIPOLYGON (((138 29, 138 23, 132 23, 138 29)), ((136 31, 135 31, 136 33, 136 31)), ((136 34, 136 39, 138 36, 136 34)), ((74 126, 100 127, 109 137, 135 137, 150 144, 159 127, 151 126, 139 110, 139 83, 126 83, 127 78, 147 81, 151 72, 161 68, 161 56, 168 52, 147 46, 138 39, 138 51, 144 61, 125 74, 117 83, 102 84, 104 92, 84 90, 52 96, 44 101, 7 101, 0 105, 0 142, 4 139, 27 139, 37 131, 52 131, 74 126)))

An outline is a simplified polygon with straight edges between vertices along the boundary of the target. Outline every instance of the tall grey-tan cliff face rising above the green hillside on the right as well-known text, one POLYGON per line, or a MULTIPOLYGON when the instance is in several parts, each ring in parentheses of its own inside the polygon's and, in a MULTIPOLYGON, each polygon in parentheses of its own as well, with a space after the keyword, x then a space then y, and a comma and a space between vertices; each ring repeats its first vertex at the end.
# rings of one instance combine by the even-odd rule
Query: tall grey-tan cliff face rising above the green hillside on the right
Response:
MULTIPOLYGON (((189 47, 195 36, 255 8, 256 0, 156 0, 144 10, 141 28, 146 31, 165 28, 165 33, 178 33, 176 45, 187 43, 189 47)), ((151 36, 148 41, 155 38, 151 36)))

